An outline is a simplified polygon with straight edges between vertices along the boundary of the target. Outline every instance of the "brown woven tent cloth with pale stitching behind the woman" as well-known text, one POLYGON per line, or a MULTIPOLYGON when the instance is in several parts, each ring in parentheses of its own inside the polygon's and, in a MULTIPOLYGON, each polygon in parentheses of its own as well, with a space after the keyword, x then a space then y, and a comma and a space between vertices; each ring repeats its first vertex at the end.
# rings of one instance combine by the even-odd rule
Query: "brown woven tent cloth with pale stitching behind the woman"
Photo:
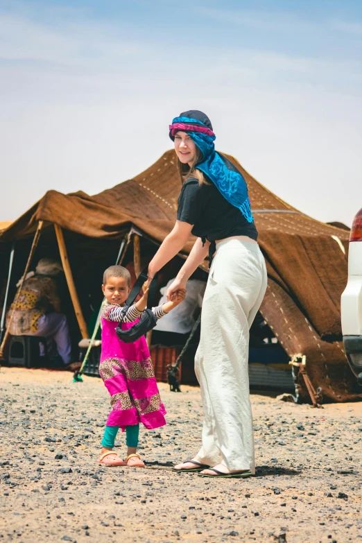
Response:
MULTIPOLYGON (((302 377, 307 370, 311 386, 316 392, 320 389, 324 402, 362 399, 341 342, 340 298, 347 281, 348 232, 302 214, 252 178, 234 158, 230 160, 248 182, 266 257, 268 289, 261 315, 288 356, 300 365, 302 397, 309 397, 308 379, 302 377)), ((131 225, 160 243, 175 222, 179 192, 174 152, 169 150, 134 179, 96 196, 48 191, 1 232, 0 250, 1 245, 5 250, 14 240, 33 236, 39 221, 44 221, 45 232, 53 230, 51 223, 64 229, 67 246, 71 240, 87 239, 88 244, 77 248, 85 250, 84 261, 92 247, 101 246, 105 254, 110 241, 120 239, 131 225)), ((184 255, 192 243, 190 239, 184 255)))

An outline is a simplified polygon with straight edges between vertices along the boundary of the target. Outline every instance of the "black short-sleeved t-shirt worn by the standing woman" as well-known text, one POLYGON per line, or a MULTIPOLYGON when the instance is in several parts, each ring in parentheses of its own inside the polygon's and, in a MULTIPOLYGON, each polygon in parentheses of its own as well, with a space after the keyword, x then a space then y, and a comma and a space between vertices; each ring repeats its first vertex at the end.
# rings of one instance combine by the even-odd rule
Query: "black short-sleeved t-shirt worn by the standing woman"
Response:
POLYGON ((257 241, 254 223, 248 223, 240 209, 227 202, 214 183, 199 184, 190 178, 183 184, 178 198, 178 221, 193 225, 191 233, 215 241, 231 236, 248 236, 257 241))

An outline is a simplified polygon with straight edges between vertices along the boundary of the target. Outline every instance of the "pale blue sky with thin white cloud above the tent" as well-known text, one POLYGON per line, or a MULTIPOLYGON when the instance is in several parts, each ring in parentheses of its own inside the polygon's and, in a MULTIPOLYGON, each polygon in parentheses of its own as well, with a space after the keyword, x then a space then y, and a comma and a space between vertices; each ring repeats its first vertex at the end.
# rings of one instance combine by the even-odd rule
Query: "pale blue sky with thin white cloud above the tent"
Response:
POLYGON ((0 0, 0 221, 97 193, 205 111, 216 147, 321 221, 362 206, 361 3, 0 0))

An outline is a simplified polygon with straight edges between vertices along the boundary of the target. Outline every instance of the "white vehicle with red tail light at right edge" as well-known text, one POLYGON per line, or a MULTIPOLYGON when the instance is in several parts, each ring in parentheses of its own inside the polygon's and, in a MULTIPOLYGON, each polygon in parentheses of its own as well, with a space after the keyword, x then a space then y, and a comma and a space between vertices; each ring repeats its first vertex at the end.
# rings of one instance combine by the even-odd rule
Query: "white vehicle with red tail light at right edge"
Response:
POLYGON ((362 385, 362 209, 354 217, 348 255, 348 282, 341 298, 343 345, 362 385))

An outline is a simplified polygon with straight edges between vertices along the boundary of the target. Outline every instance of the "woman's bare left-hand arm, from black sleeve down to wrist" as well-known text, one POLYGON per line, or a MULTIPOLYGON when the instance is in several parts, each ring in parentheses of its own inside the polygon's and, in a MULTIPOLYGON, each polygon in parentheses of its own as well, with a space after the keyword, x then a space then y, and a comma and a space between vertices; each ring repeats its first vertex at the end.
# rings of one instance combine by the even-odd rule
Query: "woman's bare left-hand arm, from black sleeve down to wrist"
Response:
MULTIPOLYGON (((148 277, 154 277, 186 245, 193 225, 176 221, 173 230, 165 237, 160 249, 156 252, 148 266, 148 277)), ((197 266, 196 266, 197 267, 197 266)))

